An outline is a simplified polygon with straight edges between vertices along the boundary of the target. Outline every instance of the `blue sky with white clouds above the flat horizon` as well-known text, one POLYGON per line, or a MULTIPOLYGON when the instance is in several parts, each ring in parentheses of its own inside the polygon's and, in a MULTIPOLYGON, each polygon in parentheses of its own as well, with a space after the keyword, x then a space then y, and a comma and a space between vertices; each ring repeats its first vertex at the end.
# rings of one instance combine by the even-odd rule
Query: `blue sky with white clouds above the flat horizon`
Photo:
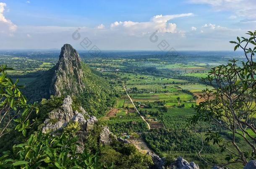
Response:
POLYGON ((159 50, 162 40, 176 50, 232 50, 228 41, 256 30, 255 11, 255 0, 0 0, 0 49, 81 50, 87 38, 100 50, 159 50))

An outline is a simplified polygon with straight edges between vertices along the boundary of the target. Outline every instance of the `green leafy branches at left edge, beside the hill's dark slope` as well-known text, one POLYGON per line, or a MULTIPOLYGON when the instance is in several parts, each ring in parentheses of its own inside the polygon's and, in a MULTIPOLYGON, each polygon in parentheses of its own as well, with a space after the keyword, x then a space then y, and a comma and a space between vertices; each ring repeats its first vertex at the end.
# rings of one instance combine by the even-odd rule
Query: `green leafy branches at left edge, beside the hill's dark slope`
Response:
POLYGON ((7 70, 12 68, 0 66, 0 138, 8 133, 13 120, 19 123, 16 129, 26 135, 26 129, 30 127, 29 116, 34 110, 38 112, 36 104, 27 104, 26 97, 20 91, 23 86, 18 85, 18 79, 13 82, 6 76, 7 70))

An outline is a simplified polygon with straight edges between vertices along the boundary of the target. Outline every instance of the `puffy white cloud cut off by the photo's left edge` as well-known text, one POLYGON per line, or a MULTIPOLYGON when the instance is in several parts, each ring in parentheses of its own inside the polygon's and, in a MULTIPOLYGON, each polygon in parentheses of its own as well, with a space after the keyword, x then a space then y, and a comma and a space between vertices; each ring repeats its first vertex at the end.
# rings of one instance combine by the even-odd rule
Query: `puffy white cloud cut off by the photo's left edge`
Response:
POLYGON ((16 31, 17 25, 13 24, 10 20, 6 19, 4 16, 4 10, 6 3, 0 3, 0 28, 1 33, 8 33, 13 35, 13 32, 16 31))

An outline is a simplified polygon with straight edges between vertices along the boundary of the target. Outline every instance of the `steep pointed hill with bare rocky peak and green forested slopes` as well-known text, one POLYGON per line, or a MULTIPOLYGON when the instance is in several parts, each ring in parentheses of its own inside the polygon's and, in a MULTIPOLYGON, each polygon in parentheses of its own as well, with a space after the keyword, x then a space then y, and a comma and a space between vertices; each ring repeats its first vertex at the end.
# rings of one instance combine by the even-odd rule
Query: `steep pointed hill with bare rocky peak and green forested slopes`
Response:
POLYGON ((103 115, 116 101, 108 81, 81 61, 77 51, 63 45, 58 63, 28 84, 24 94, 30 102, 53 96, 73 96, 91 115, 103 115))

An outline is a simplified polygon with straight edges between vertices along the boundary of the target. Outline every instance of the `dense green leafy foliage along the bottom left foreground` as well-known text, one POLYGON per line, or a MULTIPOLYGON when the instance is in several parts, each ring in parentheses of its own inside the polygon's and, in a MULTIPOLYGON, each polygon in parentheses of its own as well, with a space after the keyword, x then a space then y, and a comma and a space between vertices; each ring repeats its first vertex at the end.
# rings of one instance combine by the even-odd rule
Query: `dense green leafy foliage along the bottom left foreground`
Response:
POLYGON ((78 138, 68 134, 50 136, 31 134, 30 138, 0 157, 0 168, 74 168, 103 169, 113 168, 99 161, 98 154, 87 151, 78 153, 78 138))

